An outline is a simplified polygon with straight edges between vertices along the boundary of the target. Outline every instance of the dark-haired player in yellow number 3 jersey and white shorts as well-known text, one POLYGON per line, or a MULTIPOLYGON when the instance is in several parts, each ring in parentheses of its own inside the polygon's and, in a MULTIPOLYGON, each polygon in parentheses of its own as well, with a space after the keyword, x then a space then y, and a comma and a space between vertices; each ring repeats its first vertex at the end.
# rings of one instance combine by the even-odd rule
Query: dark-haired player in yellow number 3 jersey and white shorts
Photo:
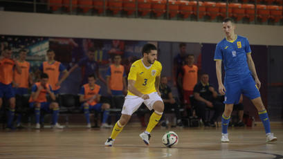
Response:
POLYGON ((140 138, 149 145, 150 133, 163 114, 164 104, 159 92, 162 66, 160 62, 156 61, 156 46, 145 44, 142 53, 143 58, 131 65, 128 76, 128 94, 125 97, 122 115, 113 127, 111 136, 105 142, 106 147, 112 146, 116 136, 129 122, 131 115, 143 103, 149 110, 154 109, 154 113, 149 118, 147 129, 140 133, 140 138))

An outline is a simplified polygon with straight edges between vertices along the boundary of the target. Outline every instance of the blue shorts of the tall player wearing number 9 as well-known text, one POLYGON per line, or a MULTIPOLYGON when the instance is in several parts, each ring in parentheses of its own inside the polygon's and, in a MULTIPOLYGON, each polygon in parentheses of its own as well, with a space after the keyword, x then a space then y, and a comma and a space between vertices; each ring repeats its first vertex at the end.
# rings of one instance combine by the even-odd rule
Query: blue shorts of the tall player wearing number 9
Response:
POLYGON ((260 97, 259 90, 255 85, 255 80, 251 75, 248 75, 248 77, 238 82, 225 81, 224 86, 226 88, 225 104, 238 104, 241 94, 245 95, 250 100, 260 97))

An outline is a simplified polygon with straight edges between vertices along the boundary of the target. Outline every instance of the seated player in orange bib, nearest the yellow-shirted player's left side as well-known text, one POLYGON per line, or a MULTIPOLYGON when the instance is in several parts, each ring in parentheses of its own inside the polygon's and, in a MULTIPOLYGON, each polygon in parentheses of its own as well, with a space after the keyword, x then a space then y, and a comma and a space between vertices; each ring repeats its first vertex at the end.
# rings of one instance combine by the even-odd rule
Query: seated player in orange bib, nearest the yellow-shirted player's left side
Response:
POLYGON ((111 125, 107 124, 107 119, 109 116, 109 111, 105 109, 110 108, 110 104, 99 103, 100 102, 100 86, 95 84, 95 75, 89 75, 89 83, 84 84, 80 89, 80 102, 82 103, 82 109, 84 109, 84 115, 86 117, 86 127, 91 128, 91 121, 89 120, 89 111, 102 111, 103 110, 103 120, 102 128, 111 128, 111 125))

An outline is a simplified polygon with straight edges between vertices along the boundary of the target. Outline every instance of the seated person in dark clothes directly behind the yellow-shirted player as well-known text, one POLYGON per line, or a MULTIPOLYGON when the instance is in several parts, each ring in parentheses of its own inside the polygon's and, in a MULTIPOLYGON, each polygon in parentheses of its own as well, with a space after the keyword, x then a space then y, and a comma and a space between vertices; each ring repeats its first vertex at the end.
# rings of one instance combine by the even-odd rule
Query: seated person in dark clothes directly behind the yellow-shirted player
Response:
MULTIPOLYGON (((178 127, 183 127, 183 124, 181 121, 181 113, 179 111, 178 104, 174 100, 170 86, 167 85, 167 77, 164 77, 164 76, 161 77, 161 85, 159 87, 159 91, 161 92, 161 98, 164 102, 164 111, 168 112, 171 109, 174 109, 174 113, 177 119, 176 125, 178 127)), ((161 126, 167 127, 167 123, 165 122, 165 120, 161 122, 161 126)))

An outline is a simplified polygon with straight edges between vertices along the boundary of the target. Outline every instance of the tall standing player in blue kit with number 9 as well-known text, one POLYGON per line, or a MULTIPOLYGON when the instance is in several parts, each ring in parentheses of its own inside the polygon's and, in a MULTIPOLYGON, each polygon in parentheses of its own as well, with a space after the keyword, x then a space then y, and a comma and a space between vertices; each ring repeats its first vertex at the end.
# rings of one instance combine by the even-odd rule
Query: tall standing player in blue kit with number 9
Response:
POLYGON ((226 38, 217 44, 214 55, 219 93, 225 95, 221 142, 229 142, 227 129, 230 115, 233 105, 239 103, 241 93, 250 98, 257 108, 259 118, 262 120, 266 131, 266 142, 273 142, 277 138, 271 133, 268 114, 259 94, 261 83, 255 71, 248 39, 235 34, 235 24, 232 19, 224 19, 222 25, 226 38), (221 78, 222 61, 226 72, 224 85, 221 78))

